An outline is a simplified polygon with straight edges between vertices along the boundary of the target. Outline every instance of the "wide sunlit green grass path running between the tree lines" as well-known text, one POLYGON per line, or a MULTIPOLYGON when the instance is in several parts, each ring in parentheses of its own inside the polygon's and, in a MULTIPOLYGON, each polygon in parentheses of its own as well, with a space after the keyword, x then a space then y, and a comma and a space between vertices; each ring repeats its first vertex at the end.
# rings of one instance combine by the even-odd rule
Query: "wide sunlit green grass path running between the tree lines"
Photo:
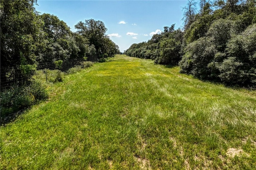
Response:
POLYGON ((126 55, 1 127, 1 169, 256 169, 256 92, 126 55))

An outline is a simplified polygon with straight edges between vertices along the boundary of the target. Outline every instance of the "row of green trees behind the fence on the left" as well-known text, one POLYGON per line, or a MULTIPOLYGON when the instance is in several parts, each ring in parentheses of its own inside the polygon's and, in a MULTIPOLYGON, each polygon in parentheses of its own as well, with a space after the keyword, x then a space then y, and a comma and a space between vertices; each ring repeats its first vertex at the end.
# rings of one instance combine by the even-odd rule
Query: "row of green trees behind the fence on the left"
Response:
POLYGON ((36 0, 0 2, 1 82, 10 77, 10 67, 12 74, 29 80, 40 63, 120 53, 102 21, 81 21, 72 32, 57 16, 39 14, 34 5, 36 0))

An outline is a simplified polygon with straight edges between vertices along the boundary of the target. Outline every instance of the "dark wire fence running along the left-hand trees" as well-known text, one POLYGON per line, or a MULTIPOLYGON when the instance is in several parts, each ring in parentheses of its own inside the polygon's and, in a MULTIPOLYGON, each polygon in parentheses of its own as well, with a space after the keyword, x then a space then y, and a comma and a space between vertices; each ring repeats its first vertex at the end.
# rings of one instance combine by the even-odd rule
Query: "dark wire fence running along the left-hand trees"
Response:
MULTIPOLYGON (((89 61, 97 61, 97 57, 90 56, 88 57, 89 61)), ((60 71, 67 71, 68 69, 78 66, 84 68, 84 59, 78 58, 78 59, 70 59, 67 61, 63 61, 62 66, 60 68, 56 67, 54 62, 48 62, 48 63, 39 63, 37 65, 37 70, 46 70, 47 75, 47 69, 53 70, 53 69, 59 69, 60 71)), ((22 71, 18 67, 1 67, 0 68, 0 89, 1 91, 4 89, 10 88, 12 85, 27 85, 29 82, 27 81, 26 75, 22 74, 22 71)))

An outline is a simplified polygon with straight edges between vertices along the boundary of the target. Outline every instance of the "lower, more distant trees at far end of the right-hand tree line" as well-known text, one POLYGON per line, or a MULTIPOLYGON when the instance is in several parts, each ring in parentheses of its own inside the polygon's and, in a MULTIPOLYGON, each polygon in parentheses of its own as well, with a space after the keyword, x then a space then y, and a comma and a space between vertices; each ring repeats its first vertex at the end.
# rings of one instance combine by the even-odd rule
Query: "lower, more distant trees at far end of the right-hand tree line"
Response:
POLYGON ((174 30, 174 24, 171 27, 164 27, 162 34, 155 34, 148 42, 132 44, 126 50, 126 55, 153 59, 155 63, 165 65, 177 65, 181 59, 182 47, 181 30, 174 30))

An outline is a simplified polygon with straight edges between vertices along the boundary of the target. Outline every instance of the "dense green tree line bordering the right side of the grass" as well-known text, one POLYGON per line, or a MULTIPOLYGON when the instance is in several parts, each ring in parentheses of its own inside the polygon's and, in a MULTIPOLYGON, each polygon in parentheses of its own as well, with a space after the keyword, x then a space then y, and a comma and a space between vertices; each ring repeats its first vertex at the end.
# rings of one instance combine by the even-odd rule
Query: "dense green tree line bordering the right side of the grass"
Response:
POLYGON ((255 87, 256 0, 189 0, 183 11, 183 29, 164 27, 125 54, 179 65, 199 79, 255 87))

